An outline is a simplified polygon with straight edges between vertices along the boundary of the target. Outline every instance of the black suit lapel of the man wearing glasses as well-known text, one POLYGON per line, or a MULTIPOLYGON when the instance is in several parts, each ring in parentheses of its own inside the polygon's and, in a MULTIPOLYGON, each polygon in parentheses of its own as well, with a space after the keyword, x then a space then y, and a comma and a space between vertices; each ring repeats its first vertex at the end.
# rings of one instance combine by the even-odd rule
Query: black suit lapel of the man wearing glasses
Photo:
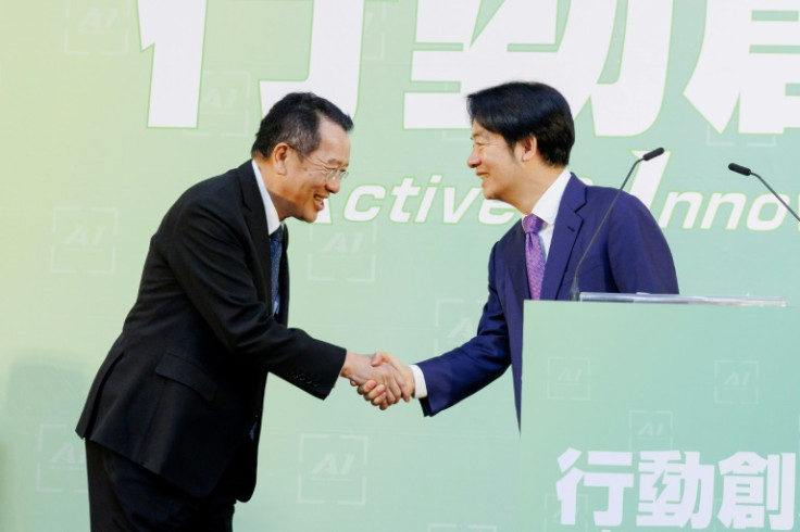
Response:
POLYGON ((250 161, 239 166, 237 177, 241 186, 245 221, 247 223, 247 228, 250 231, 250 237, 253 240, 253 245, 259 257, 259 273, 261 275, 259 276, 259 273, 253 271, 255 288, 259 292, 259 297, 272 309, 270 232, 266 228, 264 202, 261 201, 261 192, 259 191, 259 186, 255 183, 255 174, 253 173, 250 161))

